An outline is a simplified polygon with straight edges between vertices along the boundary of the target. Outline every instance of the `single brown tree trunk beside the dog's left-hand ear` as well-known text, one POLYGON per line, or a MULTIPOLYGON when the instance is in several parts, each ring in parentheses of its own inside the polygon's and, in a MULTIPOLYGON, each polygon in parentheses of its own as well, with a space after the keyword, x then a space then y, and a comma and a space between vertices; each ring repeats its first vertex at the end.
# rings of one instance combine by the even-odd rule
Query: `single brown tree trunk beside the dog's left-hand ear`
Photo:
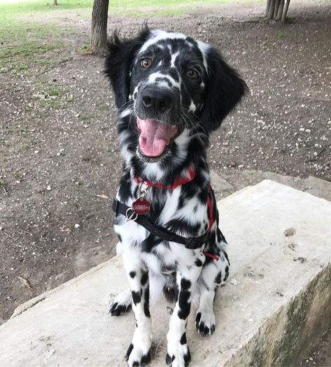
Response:
POLYGON ((107 20, 109 0, 94 0, 92 10, 90 50, 103 55, 107 47, 107 20))

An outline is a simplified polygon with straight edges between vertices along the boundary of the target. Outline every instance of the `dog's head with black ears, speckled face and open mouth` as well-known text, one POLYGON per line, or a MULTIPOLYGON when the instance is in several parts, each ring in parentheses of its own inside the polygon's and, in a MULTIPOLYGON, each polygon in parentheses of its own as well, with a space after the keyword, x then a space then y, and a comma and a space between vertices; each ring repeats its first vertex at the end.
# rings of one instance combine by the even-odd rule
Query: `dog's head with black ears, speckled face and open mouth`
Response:
POLYGON ((171 155, 191 130, 216 130, 246 92, 215 48, 184 34, 145 27, 134 39, 113 34, 108 49, 106 75, 143 162, 171 155))

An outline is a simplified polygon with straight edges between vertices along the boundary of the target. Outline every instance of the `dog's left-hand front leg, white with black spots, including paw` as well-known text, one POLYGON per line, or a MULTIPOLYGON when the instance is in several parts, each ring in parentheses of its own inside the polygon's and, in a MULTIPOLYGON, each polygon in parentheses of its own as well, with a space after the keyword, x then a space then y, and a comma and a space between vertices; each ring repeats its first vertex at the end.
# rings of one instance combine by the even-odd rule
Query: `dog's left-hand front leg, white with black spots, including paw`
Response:
POLYGON ((125 355, 129 367, 143 366, 150 361, 150 345, 152 343, 148 270, 143 265, 139 253, 132 252, 123 253, 125 270, 132 293, 134 321, 136 321, 134 336, 125 355))

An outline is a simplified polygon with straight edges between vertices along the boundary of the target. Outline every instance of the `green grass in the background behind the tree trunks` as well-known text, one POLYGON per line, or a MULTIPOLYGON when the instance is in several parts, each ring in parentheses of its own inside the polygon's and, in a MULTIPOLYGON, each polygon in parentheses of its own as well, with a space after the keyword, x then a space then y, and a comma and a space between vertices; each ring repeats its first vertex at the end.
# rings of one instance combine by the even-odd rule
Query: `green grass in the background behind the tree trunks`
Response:
MULTIPOLYGON (((110 0, 109 15, 184 15, 198 6, 258 1, 265 0, 110 0)), ((69 50, 89 53, 88 34, 79 50, 73 44, 76 22, 90 19, 93 0, 57 2, 53 6, 52 0, 0 0, 0 73, 29 75, 31 67, 56 65, 69 50)))

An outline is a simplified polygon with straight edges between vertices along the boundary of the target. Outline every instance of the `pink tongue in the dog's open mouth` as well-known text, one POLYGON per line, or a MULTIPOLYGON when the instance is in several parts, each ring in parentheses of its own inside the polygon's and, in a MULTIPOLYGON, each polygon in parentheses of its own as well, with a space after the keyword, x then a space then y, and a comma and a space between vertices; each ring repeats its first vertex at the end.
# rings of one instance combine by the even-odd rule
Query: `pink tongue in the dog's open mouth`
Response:
POLYGON ((177 133, 177 127, 160 123, 155 120, 141 120, 137 118, 136 123, 140 130, 139 145, 143 154, 157 157, 164 151, 170 139, 177 133))

